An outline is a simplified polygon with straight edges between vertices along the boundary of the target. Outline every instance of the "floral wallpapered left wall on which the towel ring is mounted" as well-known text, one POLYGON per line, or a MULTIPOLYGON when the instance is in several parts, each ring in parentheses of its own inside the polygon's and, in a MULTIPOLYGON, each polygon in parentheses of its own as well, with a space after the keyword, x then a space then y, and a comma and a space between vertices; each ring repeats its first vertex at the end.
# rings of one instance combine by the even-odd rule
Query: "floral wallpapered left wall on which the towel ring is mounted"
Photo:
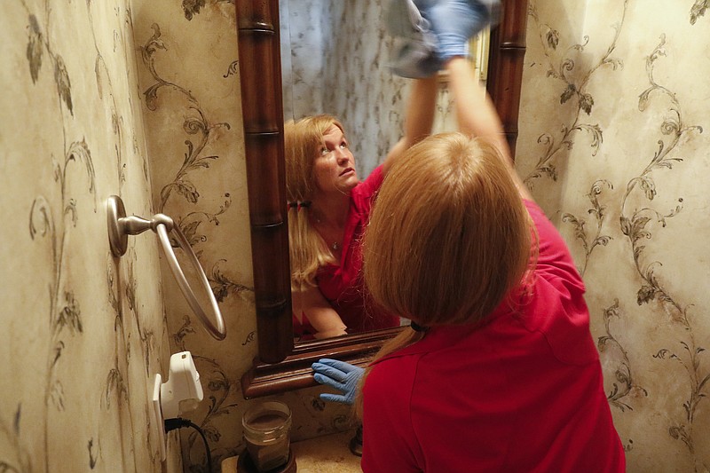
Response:
POLYGON ((105 201, 150 217, 127 0, 4 3, 0 471, 182 470, 149 414, 170 357, 155 237, 109 249, 105 201))

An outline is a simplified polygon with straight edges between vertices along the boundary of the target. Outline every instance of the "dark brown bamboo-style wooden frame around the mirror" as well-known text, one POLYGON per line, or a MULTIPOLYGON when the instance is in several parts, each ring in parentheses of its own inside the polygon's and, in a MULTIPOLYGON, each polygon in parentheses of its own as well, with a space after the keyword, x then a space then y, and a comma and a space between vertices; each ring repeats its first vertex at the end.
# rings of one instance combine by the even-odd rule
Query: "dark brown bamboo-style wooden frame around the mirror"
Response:
MULTIPOLYGON (((515 156, 525 57, 527 0, 502 0, 491 31, 488 93, 515 156)), ((259 356, 241 378, 244 398, 315 386, 313 361, 328 357, 364 365, 402 328, 293 343, 284 173, 278 0, 235 0, 241 109, 259 356)))

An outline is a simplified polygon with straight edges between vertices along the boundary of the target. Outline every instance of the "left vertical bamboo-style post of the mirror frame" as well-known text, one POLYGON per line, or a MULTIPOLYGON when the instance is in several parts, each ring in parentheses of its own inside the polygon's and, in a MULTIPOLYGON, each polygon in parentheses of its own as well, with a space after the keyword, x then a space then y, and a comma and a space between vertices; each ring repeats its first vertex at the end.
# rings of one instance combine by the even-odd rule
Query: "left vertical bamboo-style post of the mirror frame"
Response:
POLYGON ((278 363, 293 350, 279 2, 238 1, 236 7, 256 339, 259 359, 278 363))

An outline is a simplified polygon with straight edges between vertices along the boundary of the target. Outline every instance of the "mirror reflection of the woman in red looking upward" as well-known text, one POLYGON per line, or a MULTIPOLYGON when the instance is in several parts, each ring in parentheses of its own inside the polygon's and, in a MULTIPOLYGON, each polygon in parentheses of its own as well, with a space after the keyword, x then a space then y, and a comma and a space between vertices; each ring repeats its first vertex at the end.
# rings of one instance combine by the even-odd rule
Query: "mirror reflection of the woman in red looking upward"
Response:
POLYGON ((316 338, 398 327, 399 318, 368 304, 360 242, 370 209, 393 162, 429 134, 436 77, 414 81, 405 137, 363 182, 343 125, 331 115, 285 126, 288 238, 296 336, 316 338))

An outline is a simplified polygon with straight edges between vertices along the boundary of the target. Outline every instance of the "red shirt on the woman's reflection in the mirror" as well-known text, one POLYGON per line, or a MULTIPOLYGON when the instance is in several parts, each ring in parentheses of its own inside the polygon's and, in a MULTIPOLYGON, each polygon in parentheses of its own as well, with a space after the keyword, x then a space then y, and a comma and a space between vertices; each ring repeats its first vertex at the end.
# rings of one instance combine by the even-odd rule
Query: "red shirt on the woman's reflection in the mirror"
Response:
POLYGON ((340 314, 348 332, 363 332, 378 328, 398 327, 399 318, 375 307, 368 301, 362 282, 363 230, 380 185, 383 184, 382 166, 378 166, 351 192, 351 203, 343 236, 340 265, 328 264, 319 268, 316 280, 323 296, 340 314))

